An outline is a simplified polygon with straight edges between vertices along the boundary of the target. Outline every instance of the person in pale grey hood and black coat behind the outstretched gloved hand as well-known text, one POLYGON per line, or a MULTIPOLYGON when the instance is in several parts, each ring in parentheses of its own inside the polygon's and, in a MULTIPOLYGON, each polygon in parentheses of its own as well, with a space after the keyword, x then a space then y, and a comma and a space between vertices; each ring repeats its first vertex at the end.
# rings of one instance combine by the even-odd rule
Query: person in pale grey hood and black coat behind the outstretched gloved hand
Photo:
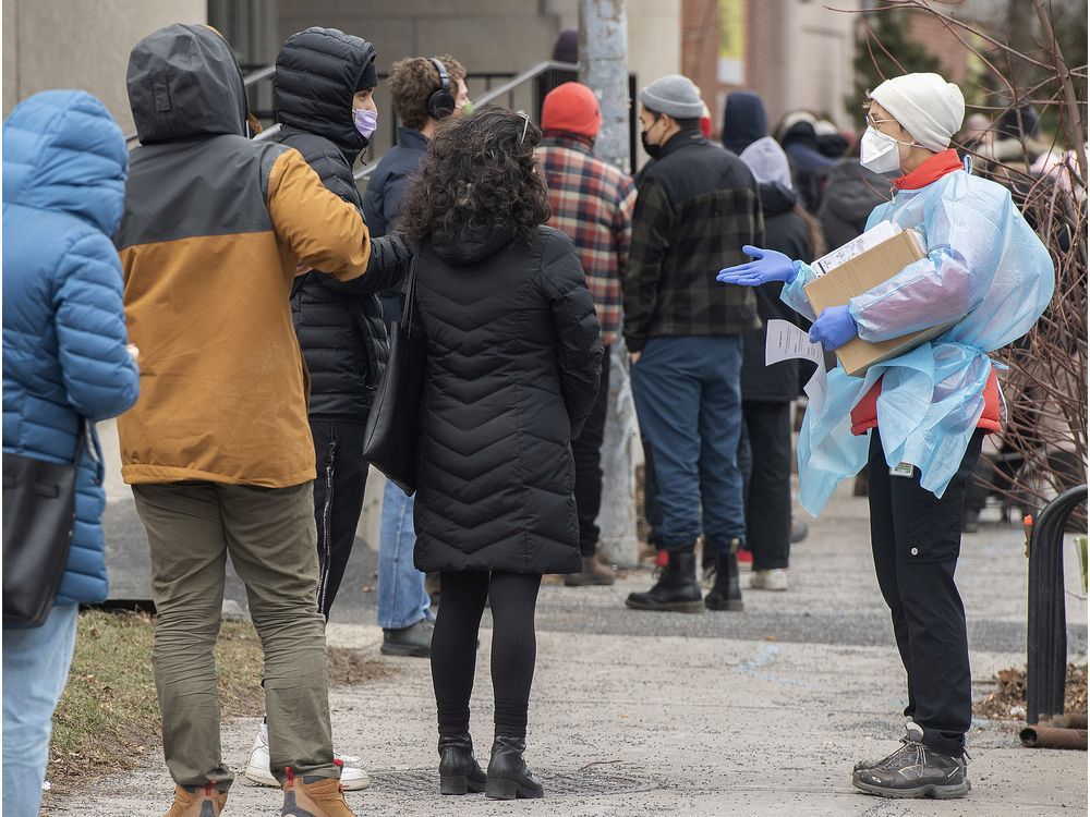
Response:
MULTIPOLYGON (((787 155, 771 136, 741 154, 758 182, 765 243, 792 258, 822 255, 821 229, 799 204, 787 155)), ((753 553, 750 587, 787 589, 791 541, 791 401, 798 394, 799 362, 765 365, 768 321, 798 325, 799 315, 779 300, 783 283, 754 288, 763 326, 743 337, 742 416, 746 434, 739 467, 746 480, 746 541, 753 553)))

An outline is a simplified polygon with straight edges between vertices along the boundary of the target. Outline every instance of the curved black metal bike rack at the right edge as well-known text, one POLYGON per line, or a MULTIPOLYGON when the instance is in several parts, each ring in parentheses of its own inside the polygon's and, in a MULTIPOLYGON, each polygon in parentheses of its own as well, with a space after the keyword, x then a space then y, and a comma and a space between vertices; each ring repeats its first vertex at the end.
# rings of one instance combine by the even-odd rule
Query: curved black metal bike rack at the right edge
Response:
POLYGON ((1067 683, 1067 606, 1064 533, 1087 486, 1052 500, 1033 521, 1029 541, 1029 620, 1026 633, 1026 722, 1064 714, 1067 683))

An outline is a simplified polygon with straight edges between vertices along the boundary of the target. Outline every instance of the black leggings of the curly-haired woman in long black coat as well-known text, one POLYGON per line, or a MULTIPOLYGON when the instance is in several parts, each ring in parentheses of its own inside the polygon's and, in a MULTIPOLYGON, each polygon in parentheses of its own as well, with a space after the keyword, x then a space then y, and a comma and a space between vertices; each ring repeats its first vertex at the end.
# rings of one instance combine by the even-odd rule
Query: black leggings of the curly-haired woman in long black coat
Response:
POLYGON ((432 684, 440 735, 469 731, 477 631, 487 601, 493 618, 496 733, 525 737, 537 659, 534 608, 541 583, 536 574, 465 571, 440 575, 443 594, 432 634, 432 684))

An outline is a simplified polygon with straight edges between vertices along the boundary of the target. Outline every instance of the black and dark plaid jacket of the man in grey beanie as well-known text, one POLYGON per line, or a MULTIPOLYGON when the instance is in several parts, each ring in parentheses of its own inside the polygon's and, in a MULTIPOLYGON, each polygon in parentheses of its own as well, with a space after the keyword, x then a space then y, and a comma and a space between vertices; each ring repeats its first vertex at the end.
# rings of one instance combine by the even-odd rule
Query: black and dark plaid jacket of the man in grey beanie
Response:
POLYGON ((632 247, 621 278, 625 343, 640 352, 659 336, 738 334, 756 329, 749 286, 715 273, 761 246, 756 182, 746 163, 699 130, 673 136, 640 175, 632 247))

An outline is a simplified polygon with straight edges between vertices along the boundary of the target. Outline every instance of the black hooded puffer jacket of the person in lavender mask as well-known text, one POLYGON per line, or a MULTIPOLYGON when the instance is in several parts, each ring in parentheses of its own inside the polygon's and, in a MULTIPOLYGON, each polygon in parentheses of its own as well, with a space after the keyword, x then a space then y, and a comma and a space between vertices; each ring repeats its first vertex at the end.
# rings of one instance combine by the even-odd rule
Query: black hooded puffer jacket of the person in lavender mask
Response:
MULTIPOLYGON (((299 150, 323 184, 363 206, 352 163, 366 142, 352 121, 352 97, 375 49, 332 28, 307 28, 277 57, 274 101, 281 123, 275 141, 299 150)), ((389 357, 376 293, 396 286, 409 269, 398 237, 372 242, 367 271, 349 282, 308 272, 291 293, 292 321, 311 375, 312 418, 366 423, 389 357)))

